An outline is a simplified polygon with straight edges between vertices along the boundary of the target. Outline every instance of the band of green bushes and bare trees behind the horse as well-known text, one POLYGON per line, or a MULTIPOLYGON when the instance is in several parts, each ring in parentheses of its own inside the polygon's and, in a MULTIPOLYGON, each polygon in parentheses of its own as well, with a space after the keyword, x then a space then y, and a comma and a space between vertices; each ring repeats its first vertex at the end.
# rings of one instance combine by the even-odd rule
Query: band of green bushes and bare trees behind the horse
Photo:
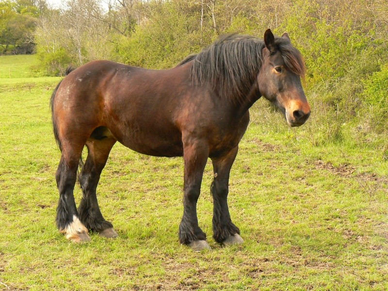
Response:
MULTIPOLYGON (((287 31, 307 64, 312 145, 341 141, 385 152, 388 5, 385 0, 1 0, 4 51, 34 48, 37 72, 62 75, 95 59, 164 69, 220 34, 287 31), (16 25, 16 23, 18 25, 16 25)), ((28 49, 27 49, 28 50, 28 49)), ((271 115, 265 118, 271 119, 271 115)), ((272 121, 271 124, 277 121, 272 121)), ((276 127, 277 130, 287 130, 276 127)), ((384 154, 383 154, 384 156, 384 154)))

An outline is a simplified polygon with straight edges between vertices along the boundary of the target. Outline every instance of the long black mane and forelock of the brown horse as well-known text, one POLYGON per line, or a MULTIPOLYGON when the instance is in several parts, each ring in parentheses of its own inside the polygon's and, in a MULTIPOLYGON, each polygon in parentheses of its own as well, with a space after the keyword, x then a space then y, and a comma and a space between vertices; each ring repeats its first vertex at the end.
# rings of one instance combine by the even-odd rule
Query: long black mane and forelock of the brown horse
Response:
MULTIPOLYGON (((288 38, 275 37, 285 65, 304 77, 303 57, 288 38)), ((242 102, 256 81, 262 65, 264 41, 250 35, 230 33, 221 36, 197 55, 186 57, 179 65, 194 60, 191 78, 194 84, 219 84, 219 93, 233 102, 242 102)))

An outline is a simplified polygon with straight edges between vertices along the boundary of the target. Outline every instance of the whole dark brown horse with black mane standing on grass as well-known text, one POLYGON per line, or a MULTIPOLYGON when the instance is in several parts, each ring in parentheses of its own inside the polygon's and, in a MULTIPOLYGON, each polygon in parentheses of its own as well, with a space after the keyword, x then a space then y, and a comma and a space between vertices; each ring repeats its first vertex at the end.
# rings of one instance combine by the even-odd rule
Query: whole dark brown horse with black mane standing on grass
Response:
POLYGON ((264 40, 229 34, 169 70, 148 70, 94 61, 70 72, 51 97, 54 135, 62 151, 56 173, 56 223, 71 241, 89 241, 88 230, 117 236, 97 203, 96 188, 118 141, 139 153, 183 156, 183 218, 179 241, 209 248, 198 226, 196 204, 210 157, 214 168, 213 233, 216 242, 242 243, 227 206, 230 168, 248 126, 249 108, 261 96, 275 104, 290 126, 305 123, 310 106, 302 89, 305 65, 287 33, 264 40), (88 155, 73 189, 83 147, 88 155))

